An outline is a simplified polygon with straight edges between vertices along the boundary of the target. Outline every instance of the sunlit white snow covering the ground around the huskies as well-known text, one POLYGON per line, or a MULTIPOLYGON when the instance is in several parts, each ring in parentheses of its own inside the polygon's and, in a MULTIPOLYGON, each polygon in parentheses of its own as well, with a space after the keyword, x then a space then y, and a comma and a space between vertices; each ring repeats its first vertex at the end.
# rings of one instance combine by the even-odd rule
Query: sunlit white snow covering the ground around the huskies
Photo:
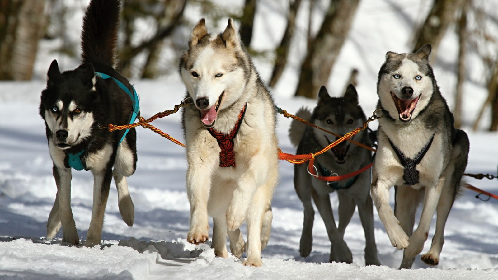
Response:
MULTIPOLYGON (((384 54, 388 50, 409 50, 407 42, 413 24, 423 18, 426 11, 423 3, 426 2, 420 1, 415 6, 416 12, 409 13, 410 6, 407 3, 363 1, 351 36, 334 68, 333 78, 328 85, 330 92, 339 95, 350 69, 358 68, 361 104, 366 114, 370 115, 376 102, 376 73, 384 54)), ((266 4, 258 14, 254 48, 270 48, 265 46, 267 41, 264 38, 281 36, 283 27, 271 29, 265 25, 272 12, 274 7, 266 4)), ((280 20, 274 14, 271 16, 276 17, 276 22, 280 20)), ((304 26, 300 26, 301 31, 304 26)), ((278 40, 273 38, 270 42, 278 40)), ((299 51, 302 52, 299 48, 294 50, 295 53, 299 51)), ((440 55, 434 65, 435 74, 443 95, 452 104, 455 81, 452 70, 456 53, 453 34, 445 37, 439 53, 444 55, 440 55)), ((112 187, 101 248, 61 246, 61 233, 56 240, 46 241, 45 223, 56 188, 51 175, 52 163, 44 126, 38 116, 38 102, 40 92, 45 87, 44 72, 54 58, 57 57, 47 51, 39 59, 37 68, 43 70, 39 71, 38 79, 0 83, 0 279, 491 280, 498 277, 498 201, 478 200, 475 198, 476 193, 468 190, 455 203, 450 214, 440 265, 435 268, 428 268, 417 258, 412 271, 396 270, 402 252, 390 245, 376 214, 375 238, 382 267, 365 267, 365 241, 357 214, 345 233, 345 240, 353 252, 354 264, 327 263, 330 242, 318 213, 313 229, 313 251, 309 257, 300 258, 298 247, 302 229, 302 204, 295 194, 293 168, 288 162, 279 164, 280 182, 272 204, 272 235, 268 247, 262 252, 264 265, 250 268, 244 267, 242 261, 234 258, 214 258, 209 246, 193 246, 185 242, 189 204, 185 191, 184 148, 141 128, 137 129, 137 170, 128 180, 135 205, 133 227, 128 228, 121 220, 117 191, 112 187)), ((298 59, 294 58, 291 63, 292 67, 284 73, 274 95, 277 105, 292 113, 303 104, 312 107, 315 102, 290 97, 297 83, 295 67, 298 59)), ((256 64, 262 76, 268 78, 271 68, 264 61, 256 60, 256 64)), ((176 68, 176 65, 171 67, 176 68)), ((475 58, 469 59, 469 67, 473 71, 470 71, 465 85, 467 95, 464 111, 464 129, 471 141, 467 172, 496 175, 497 134, 482 131, 473 133, 469 129, 482 100, 486 98, 484 80, 479 76, 482 69, 475 58)), ((140 95, 144 117, 173 108, 181 101, 184 93, 184 86, 177 75, 133 82, 140 95)), ((183 140, 179 117, 179 114, 172 115, 155 121, 154 125, 183 140)), ((279 117, 279 146, 293 153, 295 150, 287 139, 289 123, 289 120, 279 117)), ((498 193, 496 179, 468 181, 479 188, 498 193)), ((90 222, 92 182, 88 172, 73 172, 73 213, 83 239, 90 222)), ((331 195, 331 201, 336 211, 338 200, 335 194, 331 195)), ((430 246, 433 230, 429 233, 429 241, 423 252, 430 246)))

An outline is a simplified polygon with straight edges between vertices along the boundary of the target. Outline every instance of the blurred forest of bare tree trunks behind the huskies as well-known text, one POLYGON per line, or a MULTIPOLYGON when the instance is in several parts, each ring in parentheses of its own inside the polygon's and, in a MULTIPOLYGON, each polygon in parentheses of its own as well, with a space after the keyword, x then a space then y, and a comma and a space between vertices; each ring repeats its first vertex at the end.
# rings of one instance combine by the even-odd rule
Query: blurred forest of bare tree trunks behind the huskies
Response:
MULTIPOLYGON (((186 13, 195 10, 210 22, 210 30, 222 30, 228 17, 236 19, 249 53, 267 59, 274 65, 271 77, 267 79, 268 86, 273 88, 285 67, 289 67, 289 50, 295 44, 296 17, 300 13, 305 14, 308 20, 306 30, 299 30, 306 32, 307 47, 299 58, 298 83, 294 95, 316 98, 319 87, 329 81, 360 1, 238 0, 234 2, 240 4, 227 4, 215 0, 122 0, 118 71, 127 77, 143 79, 160 78, 176 72, 177 60, 186 48, 192 27, 199 19, 186 16, 186 13), (251 38, 254 16, 261 5, 271 6, 275 13, 286 18, 287 23, 283 35, 277 38, 280 43, 276 48, 256 51, 251 48, 251 38), (316 16, 317 13, 321 16, 316 16)), ((75 30, 69 28, 74 23, 68 22, 67 18, 71 18, 68 14, 82 12, 88 2, 0 0, 0 80, 31 80, 41 40, 62 41, 52 51, 77 58, 80 42, 72 35, 75 30)), ((416 51, 424 44, 431 43, 431 59, 434 61, 443 36, 447 32, 457 32, 459 55, 454 62, 457 82, 454 108, 451 108, 455 125, 460 127, 462 124, 462 85, 467 77, 466 71, 470 71, 466 69, 466 56, 474 53, 479 55, 487 69, 485 79, 489 92, 474 122, 474 129, 477 130, 483 112, 491 108, 489 130, 497 131, 498 11, 487 10, 482 3, 482 0, 425 0, 429 7, 425 20, 414 28, 408 44, 416 51)), ((351 71, 348 83, 356 84, 358 71, 348 71, 351 71)))

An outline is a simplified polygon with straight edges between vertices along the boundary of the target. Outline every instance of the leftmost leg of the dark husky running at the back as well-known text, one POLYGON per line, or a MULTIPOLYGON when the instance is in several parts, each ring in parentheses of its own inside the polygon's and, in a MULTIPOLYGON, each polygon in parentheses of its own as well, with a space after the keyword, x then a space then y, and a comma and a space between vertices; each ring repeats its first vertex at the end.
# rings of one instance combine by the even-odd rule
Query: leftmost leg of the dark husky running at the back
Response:
POLYGON ((294 166, 294 188, 304 208, 303 232, 299 241, 299 255, 301 257, 308 257, 313 246, 312 231, 315 210, 313 210, 311 202, 311 193, 315 190, 311 186, 310 176, 306 172, 306 169, 302 167, 306 168, 306 165, 295 164, 294 166))

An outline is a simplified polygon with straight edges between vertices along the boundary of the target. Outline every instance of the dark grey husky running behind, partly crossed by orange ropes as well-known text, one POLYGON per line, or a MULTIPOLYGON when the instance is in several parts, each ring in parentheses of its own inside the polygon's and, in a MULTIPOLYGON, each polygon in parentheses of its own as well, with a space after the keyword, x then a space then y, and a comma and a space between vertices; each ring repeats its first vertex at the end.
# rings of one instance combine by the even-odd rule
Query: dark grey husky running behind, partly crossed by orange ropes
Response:
MULTIPOLYGON (((301 108, 296 115, 310 123, 340 135, 363 126, 366 121, 362 108, 358 105, 358 93, 353 85, 349 85, 344 97, 332 98, 327 89, 322 87, 318 93, 318 105, 313 113, 301 108)), ((311 126, 293 120, 289 129, 289 138, 297 146, 297 154, 317 152, 338 138, 311 126)), ((353 137, 363 144, 371 145, 369 134, 362 131, 353 137)), ((345 175, 367 166, 372 162, 372 153, 349 141, 344 141, 334 148, 319 155, 315 159, 318 175, 332 176, 332 173, 345 175)), ((303 232, 299 253, 306 257, 311 252, 313 243, 312 228, 315 211, 311 199, 315 202, 327 234, 332 243, 330 262, 352 263, 353 256, 344 241, 344 232, 348 226, 356 206, 365 231, 365 264, 380 265, 377 259, 377 248, 373 235, 373 203, 370 197, 370 172, 335 182, 327 182, 308 174, 308 164, 294 165, 294 187, 304 206, 303 232), (339 197, 339 227, 334 221, 329 193, 337 191, 339 197)))

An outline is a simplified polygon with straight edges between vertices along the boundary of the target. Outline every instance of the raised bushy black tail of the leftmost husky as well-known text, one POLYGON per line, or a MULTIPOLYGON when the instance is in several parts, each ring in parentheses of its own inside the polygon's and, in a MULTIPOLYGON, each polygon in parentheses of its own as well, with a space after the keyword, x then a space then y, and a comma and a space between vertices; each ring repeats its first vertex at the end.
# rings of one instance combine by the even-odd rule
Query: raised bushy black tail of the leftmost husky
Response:
POLYGON ((91 0, 83 17, 81 48, 83 63, 116 67, 120 0, 91 0))

